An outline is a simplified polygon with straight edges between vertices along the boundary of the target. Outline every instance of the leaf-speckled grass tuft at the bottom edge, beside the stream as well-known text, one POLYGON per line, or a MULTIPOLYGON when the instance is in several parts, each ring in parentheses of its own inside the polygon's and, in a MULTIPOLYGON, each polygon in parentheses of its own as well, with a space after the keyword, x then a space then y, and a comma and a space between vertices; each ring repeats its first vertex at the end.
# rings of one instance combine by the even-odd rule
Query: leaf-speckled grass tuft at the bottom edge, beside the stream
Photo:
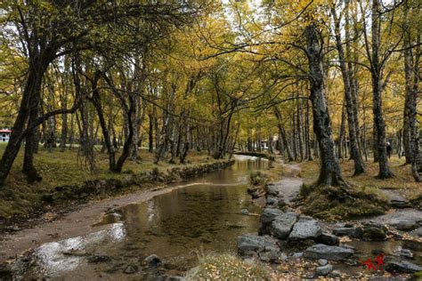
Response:
POLYGON ((231 254, 199 257, 198 267, 186 273, 186 280, 267 280, 271 269, 257 261, 243 261, 231 254))

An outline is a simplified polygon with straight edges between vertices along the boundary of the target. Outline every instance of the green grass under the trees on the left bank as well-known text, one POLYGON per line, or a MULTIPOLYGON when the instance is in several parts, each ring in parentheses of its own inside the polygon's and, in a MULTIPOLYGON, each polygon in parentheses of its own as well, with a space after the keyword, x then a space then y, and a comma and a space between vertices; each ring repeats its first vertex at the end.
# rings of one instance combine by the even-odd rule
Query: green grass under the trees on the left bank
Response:
MULTIPOLYGON (((1 143, 0 155, 3 155, 4 149, 5 144, 1 143)), ((51 153, 48 149, 40 147, 34 160, 43 181, 28 184, 25 175, 21 173, 23 149, 20 149, 5 186, 0 188, 0 218, 25 217, 36 212, 44 204, 42 201, 43 195, 58 186, 78 184, 95 179, 122 179, 127 173, 142 173, 156 168, 158 171, 166 171, 176 166, 182 166, 179 164, 170 165, 166 159, 158 165, 154 165, 154 155, 146 149, 141 149, 142 160, 139 163, 127 160, 123 173, 110 173, 108 171, 107 154, 99 151, 95 154, 99 172, 92 174, 87 172, 85 166, 78 161, 77 148, 67 149, 64 152, 53 149, 51 153)), ((214 162, 207 155, 197 151, 191 151, 188 160, 192 165, 214 162)))

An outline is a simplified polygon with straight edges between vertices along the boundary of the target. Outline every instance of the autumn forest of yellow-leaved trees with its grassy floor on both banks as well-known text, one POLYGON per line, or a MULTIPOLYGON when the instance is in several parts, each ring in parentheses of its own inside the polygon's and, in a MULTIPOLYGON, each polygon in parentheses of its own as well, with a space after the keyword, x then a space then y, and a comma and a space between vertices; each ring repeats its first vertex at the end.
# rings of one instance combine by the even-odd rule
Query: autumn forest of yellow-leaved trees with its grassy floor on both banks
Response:
POLYGON ((303 210, 317 217, 379 210, 364 186, 403 185, 420 201, 421 10, 420 0, 2 1, 4 227, 57 186, 239 154, 299 165, 312 178, 303 210))

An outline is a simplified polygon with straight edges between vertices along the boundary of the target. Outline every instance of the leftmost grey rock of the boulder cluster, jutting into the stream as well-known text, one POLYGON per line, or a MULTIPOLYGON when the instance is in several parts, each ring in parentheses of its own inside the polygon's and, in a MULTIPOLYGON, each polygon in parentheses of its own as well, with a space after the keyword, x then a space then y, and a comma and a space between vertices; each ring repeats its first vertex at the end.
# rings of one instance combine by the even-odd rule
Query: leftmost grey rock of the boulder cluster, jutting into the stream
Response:
POLYGON ((238 253, 242 256, 250 256, 254 253, 280 251, 277 239, 269 236, 256 236, 255 234, 244 234, 238 237, 238 253))

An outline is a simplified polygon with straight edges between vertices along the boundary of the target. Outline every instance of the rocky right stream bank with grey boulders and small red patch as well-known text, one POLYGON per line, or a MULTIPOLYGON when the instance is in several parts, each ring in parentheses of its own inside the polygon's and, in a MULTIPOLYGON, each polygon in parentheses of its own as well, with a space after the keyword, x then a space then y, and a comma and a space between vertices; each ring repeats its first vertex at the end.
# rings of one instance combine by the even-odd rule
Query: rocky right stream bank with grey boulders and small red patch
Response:
POLYGON ((238 237, 238 253, 246 261, 269 264, 281 278, 420 277, 422 212, 394 197, 400 209, 381 216, 316 220, 295 202, 303 185, 300 170, 284 166, 290 175, 265 186, 258 234, 238 237))

